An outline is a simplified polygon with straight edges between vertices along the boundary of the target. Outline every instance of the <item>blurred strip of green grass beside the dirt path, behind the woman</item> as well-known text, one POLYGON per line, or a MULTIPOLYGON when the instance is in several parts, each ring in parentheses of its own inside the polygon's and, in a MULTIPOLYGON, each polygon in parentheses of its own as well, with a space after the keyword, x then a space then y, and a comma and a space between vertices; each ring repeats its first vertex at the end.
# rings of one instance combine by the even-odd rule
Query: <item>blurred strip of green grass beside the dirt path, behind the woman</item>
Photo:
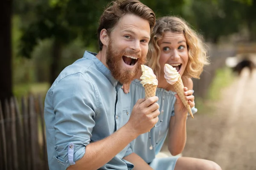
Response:
POLYGON ((224 67, 217 69, 215 72, 215 78, 212 80, 212 84, 209 86, 206 99, 200 97, 195 99, 196 108, 199 113, 212 113, 215 111, 212 102, 221 99, 221 91, 228 87, 233 82, 233 74, 230 68, 224 67))

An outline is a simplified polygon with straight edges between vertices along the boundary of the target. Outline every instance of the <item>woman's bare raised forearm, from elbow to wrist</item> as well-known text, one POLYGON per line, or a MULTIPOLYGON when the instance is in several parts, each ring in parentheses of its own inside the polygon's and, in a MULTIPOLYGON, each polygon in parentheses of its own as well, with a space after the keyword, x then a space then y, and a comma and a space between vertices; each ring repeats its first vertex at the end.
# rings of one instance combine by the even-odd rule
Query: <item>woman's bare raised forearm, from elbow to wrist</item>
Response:
POLYGON ((180 154, 186 144, 186 116, 175 117, 174 125, 169 134, 169 151, 173 156, 180 154))

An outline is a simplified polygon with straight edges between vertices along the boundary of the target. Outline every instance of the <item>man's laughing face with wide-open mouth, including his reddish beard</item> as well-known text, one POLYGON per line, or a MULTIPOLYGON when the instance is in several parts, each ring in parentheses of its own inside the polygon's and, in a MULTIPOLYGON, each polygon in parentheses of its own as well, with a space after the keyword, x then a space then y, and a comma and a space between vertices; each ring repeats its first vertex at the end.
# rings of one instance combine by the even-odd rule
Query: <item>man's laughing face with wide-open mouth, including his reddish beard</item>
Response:
POLYGON ((126 14, 113 28, 106 51, 106 64, 122 84, 131 82, 145 63, 150 40, 147 20, 126 14))

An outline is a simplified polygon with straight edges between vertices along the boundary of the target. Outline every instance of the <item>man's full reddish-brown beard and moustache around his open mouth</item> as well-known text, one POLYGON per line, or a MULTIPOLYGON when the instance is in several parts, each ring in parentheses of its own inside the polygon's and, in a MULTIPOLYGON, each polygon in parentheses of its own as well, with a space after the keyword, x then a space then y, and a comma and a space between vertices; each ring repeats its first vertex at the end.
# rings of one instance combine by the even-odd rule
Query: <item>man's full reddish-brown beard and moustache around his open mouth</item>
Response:
POLYGON ((117 51, 113 49, 112 42, 109 42, 107 51, 106 51, 106 64, 108 65, 109 70, 111 71, 112 76, 118 80, 120 83, 130 83, 134 80, 140 69, 142 64, 145 63, 145 58, 141 56, 141 53, 134 53, 133 51, 117 51), (138 58, 137 66, 134 70, 128 70, 125 68, 121 68, 121 60, 124 55, 136 55, 138 58))

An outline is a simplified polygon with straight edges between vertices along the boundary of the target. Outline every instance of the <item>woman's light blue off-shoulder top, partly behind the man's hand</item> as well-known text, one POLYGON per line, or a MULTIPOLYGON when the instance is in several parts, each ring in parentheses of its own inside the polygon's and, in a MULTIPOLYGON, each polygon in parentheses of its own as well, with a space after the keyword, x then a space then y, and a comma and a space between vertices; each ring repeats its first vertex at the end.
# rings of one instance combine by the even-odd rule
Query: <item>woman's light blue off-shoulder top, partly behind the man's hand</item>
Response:
MULTIPOLYGON (((131 149, 134 153, 137 153, 147 163, 150 163, 157 153, 160 152, 163 147, 163 143, 166 139, 169 122, 171 116, 174 116, 174 103, 175 103, 175 92, 166 91, 163 88, 157 88, 156 96, 158 96, 158 104, 160 115, 159 120, 155 127, 150 132, 141 134, 134 141, 131 142, 131 149)), ((135 79, 130 85, 131 95, 131 111, 133 106, 136 104, 138 99, 145 97, 145 88, 140 83, 140 80, 135 79)), ((197 109, 192 108, 192 113, 196 113, 197 109)))

